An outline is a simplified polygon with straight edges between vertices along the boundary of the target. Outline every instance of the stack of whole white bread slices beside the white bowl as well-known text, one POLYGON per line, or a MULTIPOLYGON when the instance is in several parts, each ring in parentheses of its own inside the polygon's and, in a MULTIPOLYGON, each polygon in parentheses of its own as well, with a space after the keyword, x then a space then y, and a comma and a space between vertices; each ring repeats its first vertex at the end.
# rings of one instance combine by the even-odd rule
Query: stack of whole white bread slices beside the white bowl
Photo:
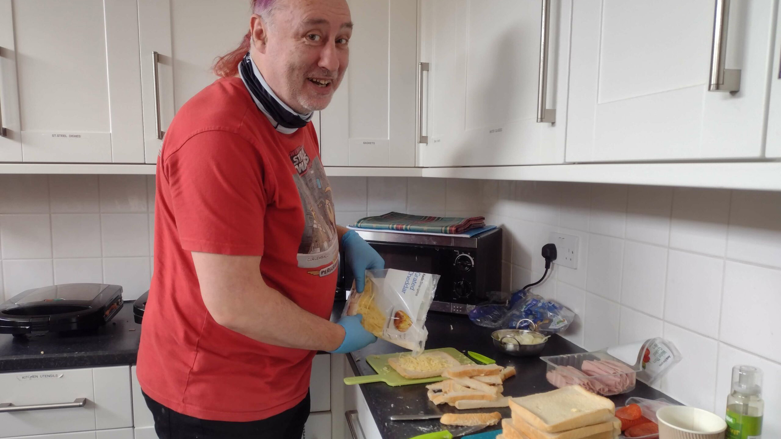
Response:
POLYGON ((500 439, 615 439, 621 421, 608 398, 580 386, 513 398, 500 439))

